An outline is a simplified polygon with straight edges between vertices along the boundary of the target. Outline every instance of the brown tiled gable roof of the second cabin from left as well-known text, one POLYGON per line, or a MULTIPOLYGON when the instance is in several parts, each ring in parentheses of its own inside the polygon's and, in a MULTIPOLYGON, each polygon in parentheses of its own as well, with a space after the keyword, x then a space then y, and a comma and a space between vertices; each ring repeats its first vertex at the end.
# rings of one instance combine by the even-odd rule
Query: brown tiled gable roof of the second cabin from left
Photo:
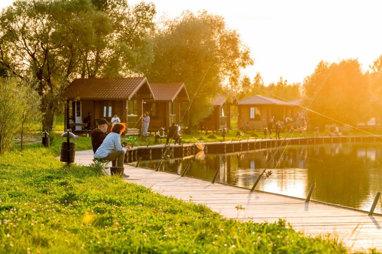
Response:
POLYGON ((189 100, 185 83, 150 83, 150 87, 155 101, 174 101, 183 88, 189 100))

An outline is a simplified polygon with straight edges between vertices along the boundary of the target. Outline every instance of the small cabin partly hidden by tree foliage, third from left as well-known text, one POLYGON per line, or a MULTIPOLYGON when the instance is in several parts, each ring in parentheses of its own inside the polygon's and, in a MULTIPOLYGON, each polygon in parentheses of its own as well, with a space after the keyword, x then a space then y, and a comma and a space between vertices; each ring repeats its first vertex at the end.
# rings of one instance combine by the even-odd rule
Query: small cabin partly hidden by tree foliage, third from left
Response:
POLYGON ((231 106, 237 104, 236 98, 228 101, 227 96, 216 96, 214 101, 214 109, 212 113, 203 119, 200 124, 202 130, 223 130, 223 128, 231 128, 231 106))

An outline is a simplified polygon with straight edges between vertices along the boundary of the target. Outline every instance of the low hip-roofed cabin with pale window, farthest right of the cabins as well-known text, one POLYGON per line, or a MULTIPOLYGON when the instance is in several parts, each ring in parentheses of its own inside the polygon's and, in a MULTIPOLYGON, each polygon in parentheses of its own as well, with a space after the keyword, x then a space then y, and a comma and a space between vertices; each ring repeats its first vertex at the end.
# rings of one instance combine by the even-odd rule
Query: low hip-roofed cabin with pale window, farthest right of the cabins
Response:
POLYGON ((271 118, 274 122, 284 121, 287 116, 293 117, 297 106, 263 95, 253 95, 238 101, 238 128, 261 129, 266 127, 271 118))

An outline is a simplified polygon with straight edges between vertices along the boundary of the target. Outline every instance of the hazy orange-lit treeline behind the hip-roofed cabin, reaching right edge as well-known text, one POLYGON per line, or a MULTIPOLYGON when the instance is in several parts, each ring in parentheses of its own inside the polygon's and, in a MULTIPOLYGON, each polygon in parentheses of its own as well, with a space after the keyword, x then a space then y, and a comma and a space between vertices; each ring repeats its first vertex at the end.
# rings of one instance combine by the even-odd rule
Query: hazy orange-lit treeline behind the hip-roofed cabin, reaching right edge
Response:
POLYGON ((276 84, 266 86, 257 73, 253 80, 244 77, 234 90, 238 99, 255 94, 278 100, 301 99, 301 112, 307 113, 311 126, 333 123, 355 126, 372 117, 382 117, 382 55, 366 72, 358 59, 320 61, 303 83, 288 84, 280 77, 276 84))

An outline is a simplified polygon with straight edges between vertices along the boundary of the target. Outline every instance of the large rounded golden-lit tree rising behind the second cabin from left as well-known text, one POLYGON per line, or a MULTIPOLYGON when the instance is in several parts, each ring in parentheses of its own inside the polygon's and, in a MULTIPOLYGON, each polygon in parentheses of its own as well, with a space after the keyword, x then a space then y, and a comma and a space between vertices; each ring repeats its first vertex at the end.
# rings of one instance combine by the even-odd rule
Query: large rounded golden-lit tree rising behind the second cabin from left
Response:
POLYGON ((189 109, 188 131, 211 113, 212 101, 222 84, 236 84, 241 68, 253 64, 240 35, 227 28, 221 16, 206 11, 185 11, 176 19, 166 20, 153 40, 154 61, 144 72, 147 79, 184 82, 190 97, 197 92, 189 109))

